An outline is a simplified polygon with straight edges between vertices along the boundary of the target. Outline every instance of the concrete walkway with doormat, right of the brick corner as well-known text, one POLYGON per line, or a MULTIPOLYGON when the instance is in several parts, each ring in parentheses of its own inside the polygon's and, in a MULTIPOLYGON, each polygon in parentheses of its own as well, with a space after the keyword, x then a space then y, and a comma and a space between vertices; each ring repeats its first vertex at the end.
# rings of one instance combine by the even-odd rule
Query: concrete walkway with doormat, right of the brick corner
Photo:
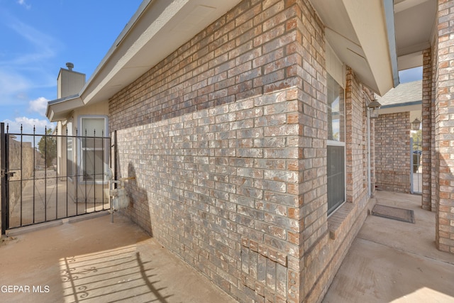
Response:
POLYGON ((323 302, 454 302, 454 255, 436 249, 435 213, 421 196, 376 197, 413 209, 415 224, 367 216, 323 302))

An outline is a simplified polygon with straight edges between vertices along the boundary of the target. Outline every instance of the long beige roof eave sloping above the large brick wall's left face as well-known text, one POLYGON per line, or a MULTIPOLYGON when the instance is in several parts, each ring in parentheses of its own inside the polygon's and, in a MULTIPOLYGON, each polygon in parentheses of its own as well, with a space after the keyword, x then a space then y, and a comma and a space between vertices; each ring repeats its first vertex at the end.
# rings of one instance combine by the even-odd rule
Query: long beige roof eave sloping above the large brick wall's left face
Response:
POLYGON ((239 2, 143 1, 79 92, 83 103, 108 101, 239 2))

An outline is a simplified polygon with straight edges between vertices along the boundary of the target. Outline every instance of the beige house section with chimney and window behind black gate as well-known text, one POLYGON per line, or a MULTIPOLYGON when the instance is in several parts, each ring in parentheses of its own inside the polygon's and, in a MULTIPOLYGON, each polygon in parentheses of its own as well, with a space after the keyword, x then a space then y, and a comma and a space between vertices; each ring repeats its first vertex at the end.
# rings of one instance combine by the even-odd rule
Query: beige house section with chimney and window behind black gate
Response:
POLYGON ((72 70, 70 62, 67 67, 61 68, 57 77, 59 99, 49 102, 50 108, 71 108, 64 119, 53 120, 57 121, 57 174, 67 178, 67 197, 72 202, 108 202, 109 180, 104 172, 109 168, 109 141, 102 137, 110 136, 109 106, 106 102, 72 106, 70 100, 83 89, 85 75, 72 70))

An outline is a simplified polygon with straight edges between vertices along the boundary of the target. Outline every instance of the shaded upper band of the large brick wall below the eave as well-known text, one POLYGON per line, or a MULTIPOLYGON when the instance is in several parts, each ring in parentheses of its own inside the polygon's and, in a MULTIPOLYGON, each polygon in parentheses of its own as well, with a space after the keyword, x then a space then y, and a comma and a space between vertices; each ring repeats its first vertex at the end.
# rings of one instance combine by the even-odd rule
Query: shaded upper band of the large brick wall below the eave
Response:
MULTIPOLYGON (((303 87, 301 44, 308 40, 299 31, 301 10, 294 1, 241 2, 117 94, 109 104, 111 125, 153 123, 303 87)), ((314 52, 323 53, 321 36, 310 41, 314 52)), ((311 74, 323 66, 306 60, 311 74)))

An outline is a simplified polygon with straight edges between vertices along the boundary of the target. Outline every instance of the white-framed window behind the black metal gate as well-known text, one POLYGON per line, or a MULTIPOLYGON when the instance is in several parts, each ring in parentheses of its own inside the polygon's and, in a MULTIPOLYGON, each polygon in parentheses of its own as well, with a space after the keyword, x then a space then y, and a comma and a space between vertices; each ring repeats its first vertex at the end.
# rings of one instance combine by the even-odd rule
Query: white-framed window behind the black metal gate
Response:
POLYGON ((82 116, 79 136, 79 180, 104 182, 108 160, 107 118, 105 116, 82 116))

